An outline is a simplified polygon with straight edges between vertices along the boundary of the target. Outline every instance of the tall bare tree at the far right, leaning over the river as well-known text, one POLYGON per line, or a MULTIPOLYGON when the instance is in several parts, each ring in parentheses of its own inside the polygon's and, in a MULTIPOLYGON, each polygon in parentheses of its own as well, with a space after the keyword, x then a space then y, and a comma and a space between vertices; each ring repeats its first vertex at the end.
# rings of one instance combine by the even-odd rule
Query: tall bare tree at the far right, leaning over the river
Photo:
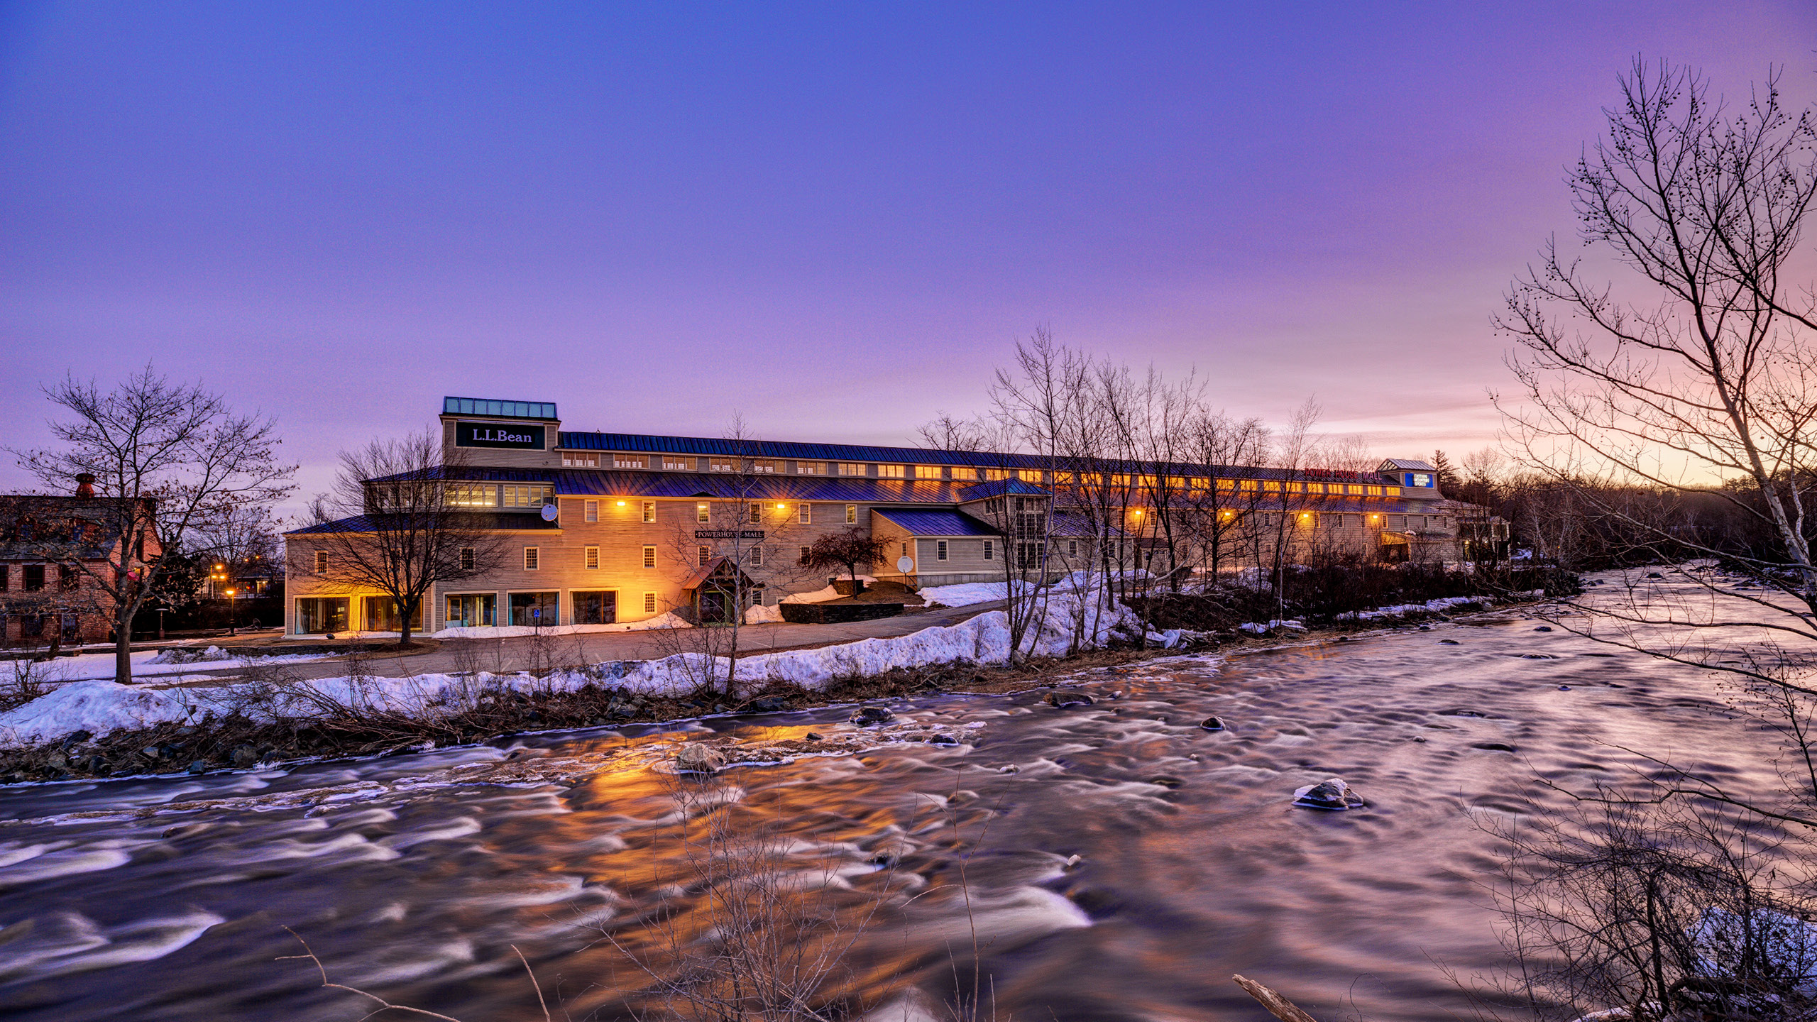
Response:
MULTIPOLYGON (((1743 107, 1695 73, 1635 60, 1606 136, 1566 180, 1581 240, 1628 271, 1599 282, 1548 242, 1495 324, 1519 344, 1519 400, 1499 402, 1523 466, 1583 515, 1661 558, 1697 606, 1577 600, 1606 642, 1817 698, 1793 667, 1817 644, 1817 564, 1806 515, 1817 480, 1817 291, 1788 275, 1817 198, 1817 122, 1781 105, 1777 76, 1743 107), (1659 495, 1726 504, 1755 544, 1686 527, 1659 495), (1761 642, 1761 636, 1772 642, 1761 642), (1741 647, 1744 655, 1735 655, 1741 647), (1762 658, 1766 649, 1782 655, 1762 658)), ((1817 811, 1817 806, 1812 806, 1817 811)), ((1817 822, 1817 820, 1813 820, 1817 822)))

